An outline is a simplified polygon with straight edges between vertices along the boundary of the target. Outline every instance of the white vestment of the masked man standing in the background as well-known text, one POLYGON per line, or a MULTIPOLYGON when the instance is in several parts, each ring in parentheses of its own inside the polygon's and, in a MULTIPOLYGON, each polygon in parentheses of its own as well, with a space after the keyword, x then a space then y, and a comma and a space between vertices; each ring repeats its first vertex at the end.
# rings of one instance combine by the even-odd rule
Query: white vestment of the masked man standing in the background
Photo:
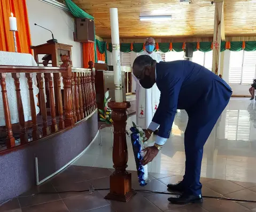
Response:
MULTIPOLYGON (((149 54, 146 51, 139 53, 139 55, 149 55, 157 62, 162 61, 160 54, 152 52, 149 54)), ((145 89, 139 84, 139 80, 133 75, 136 81, 136 124, 142 129, 147 129, 152 121, 153 115, 157 110, 160 91, 156 85, 150 89, 145 89)))

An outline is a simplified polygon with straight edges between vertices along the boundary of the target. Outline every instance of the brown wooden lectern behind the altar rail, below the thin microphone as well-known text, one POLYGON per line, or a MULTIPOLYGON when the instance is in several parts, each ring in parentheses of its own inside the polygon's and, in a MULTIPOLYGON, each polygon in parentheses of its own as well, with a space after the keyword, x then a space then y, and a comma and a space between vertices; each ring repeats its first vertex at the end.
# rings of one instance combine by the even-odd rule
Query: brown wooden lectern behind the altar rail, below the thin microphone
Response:
MULTIPOLYGON (((58 67, 61 65, 61 55, 68 55, 69 56, 69 64, 72 66, 72 51, 71 45, 67 44, 60 44, 60 43, 46 43, 41 44, 38 46, 30 46, 32 50, 34 50, 34 58, 37 64, 43 64, 44 66, 48 66, 51 64, 52 67, 58 67), (47 62, 46 64, 43 62, 39 62, 38 55, 50 55, 51 63, 47 62)), ((58 89, 57 89, 57 77, 56 75, 53 76, 53 84, 54 84, 54 91, 55 91, 55 107, 56 107, 56 115, 58 116, 58 89)), ((50 100, 49 100, 49 87, 48 87, 48 78, 45 77, 45 92, 46 92, 46 107, 50 108, 50 100)))

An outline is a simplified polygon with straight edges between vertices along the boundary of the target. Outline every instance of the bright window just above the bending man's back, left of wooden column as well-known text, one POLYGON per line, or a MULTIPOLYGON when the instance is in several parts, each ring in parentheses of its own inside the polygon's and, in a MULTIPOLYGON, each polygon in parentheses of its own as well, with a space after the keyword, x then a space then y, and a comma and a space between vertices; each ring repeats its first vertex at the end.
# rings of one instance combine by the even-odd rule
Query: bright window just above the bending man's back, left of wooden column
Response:
POLYGON ((212 59, 213 58, 213 52, 200 52, 196 51, 193 52, 193 58, 192 61, 198 63, 201 66, 204 66, 205 68, 212 70, 212 59))

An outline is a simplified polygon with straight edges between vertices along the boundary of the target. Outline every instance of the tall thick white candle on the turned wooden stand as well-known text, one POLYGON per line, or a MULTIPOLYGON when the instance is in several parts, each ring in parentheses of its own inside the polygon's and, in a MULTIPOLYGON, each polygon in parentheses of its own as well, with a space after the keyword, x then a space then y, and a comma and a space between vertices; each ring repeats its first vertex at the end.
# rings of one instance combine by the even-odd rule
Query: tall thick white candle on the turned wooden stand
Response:
POLYGON ((122 81, 120 64, 120 43, 118 26, 118 9, 110 8, 111 41, 115 84, 115 101, 122 102, 122 81))

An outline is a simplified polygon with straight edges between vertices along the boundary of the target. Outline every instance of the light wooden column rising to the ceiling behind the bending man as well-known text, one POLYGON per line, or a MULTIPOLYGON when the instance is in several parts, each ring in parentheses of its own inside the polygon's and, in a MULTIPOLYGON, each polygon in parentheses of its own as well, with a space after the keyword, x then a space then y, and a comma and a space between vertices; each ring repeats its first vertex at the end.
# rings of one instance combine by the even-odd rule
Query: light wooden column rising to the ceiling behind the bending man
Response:
POLYGON ((215 75, 219 75, 220 69, 220 48, 221 48, 221 35, 223 32, 223 0, 215 0, 215 15, 214 15, 214 32, 213 32, 213 63, 212 71, 215 75))

